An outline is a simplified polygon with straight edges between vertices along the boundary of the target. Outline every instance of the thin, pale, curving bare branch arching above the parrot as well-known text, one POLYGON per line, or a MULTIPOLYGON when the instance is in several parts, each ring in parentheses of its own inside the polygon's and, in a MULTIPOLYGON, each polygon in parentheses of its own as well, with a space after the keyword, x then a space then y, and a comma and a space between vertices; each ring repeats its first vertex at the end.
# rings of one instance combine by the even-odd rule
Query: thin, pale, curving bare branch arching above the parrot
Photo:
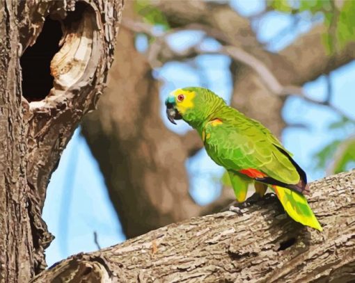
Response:
MULTIPOLYGON (((152 26, 150 26, 149 24, 129 21, 129 22, 125 22, 125 26, 129 29, 132 29, 133 31, 144 32, 144 33, 148 33, 149 35, 155 36, 153 33, 152 26)), ((273 71, 269 68, 269 66, 267 66, 257 56, 254 56, 248 51, 245 51, 241 47, 225 45, 221 47, 220 50, 211 52, 211 51, 204 51, 200 49, 199 47, 200 43, 197 43, 196 45, 189 47, 189 49, 185 49, 183 51, 173 51, 168 46, 168 43, 166 42, 167 36, 177 31, 180 31, 181 29, 182 28, 172 29, 171 31, 168 31, 168 33, 163 33, 159 35, 157 37, 156 42, 154 42, 150 46, 150 51, 148 51, 148 60, 150 61, 152 67, 157 67, 166 61, 186 60, 187 58, 193 58, 201 54, 226 54, 227 56, 230 56, 230 58, 235 60, 237 63, 242 63, 243 65, 250 67, 251 70, 253 70, 253 72, 258 74, 265 87, 274 95, 277 95, 279 97, 284 97, 287 95, 297 95, 302 99, 306 100, 307 102, 311 102, 322 106, 328 106, 329 108, 331 108, 331 110, 336 112, 338 115, 355 123, 354 118, 350 117, 340 108, 330 103, 330 99, 331 99, 330 79, 327 79, 327 97, 324 100, 324 102, 312 99, 306 95, 303 88, 300 86, 295 86, 295 85, 284 86, 279 81, 277 76, 273 73, 273 71)), ((184 26, 184 29, 196 29, 196 30, 204 31, 207 35, 212 36, 217 40, 228 42, 228 39, 221 31, 218 31, 217 29, 214 28, 210 28, 204 24, 188 24, 187 26, 184 26)), ((333 58, 329 62, 333 63, 333 60, 335 60, 335 58, 333 58)), ((329 63, 329 65, 333 65, 333 64, 329 63)))

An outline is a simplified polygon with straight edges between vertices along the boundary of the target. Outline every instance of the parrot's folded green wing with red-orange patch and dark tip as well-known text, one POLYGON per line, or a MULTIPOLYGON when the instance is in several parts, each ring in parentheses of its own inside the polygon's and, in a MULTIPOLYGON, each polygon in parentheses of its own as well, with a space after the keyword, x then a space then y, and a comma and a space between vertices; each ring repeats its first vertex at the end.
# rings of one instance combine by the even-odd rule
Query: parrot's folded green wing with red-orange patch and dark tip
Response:
POLYGON ((306 174, 262 124, 244 115, 214 119, 203 132, 207 153, 227 170, 307 193, 306 174))

